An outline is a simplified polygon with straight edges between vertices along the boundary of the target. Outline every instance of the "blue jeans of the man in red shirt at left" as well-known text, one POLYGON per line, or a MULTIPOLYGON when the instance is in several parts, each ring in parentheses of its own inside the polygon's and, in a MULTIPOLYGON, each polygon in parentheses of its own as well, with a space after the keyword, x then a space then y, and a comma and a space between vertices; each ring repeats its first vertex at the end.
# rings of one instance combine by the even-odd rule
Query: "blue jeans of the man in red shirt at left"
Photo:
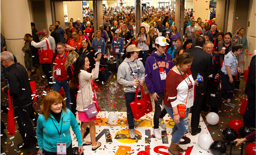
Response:
POLYGON ((71 109, 71 96, 70 96, 70 92, 69 92, 69 83, 67 80, 64 81, 57 81, 56 79, 54 79, 55 84, 53 84, 53 91, 57 91, 59 92, 60 89, 63 87, 64 91, 65 91, 65 95, 66 95, 66 107, 71 109))

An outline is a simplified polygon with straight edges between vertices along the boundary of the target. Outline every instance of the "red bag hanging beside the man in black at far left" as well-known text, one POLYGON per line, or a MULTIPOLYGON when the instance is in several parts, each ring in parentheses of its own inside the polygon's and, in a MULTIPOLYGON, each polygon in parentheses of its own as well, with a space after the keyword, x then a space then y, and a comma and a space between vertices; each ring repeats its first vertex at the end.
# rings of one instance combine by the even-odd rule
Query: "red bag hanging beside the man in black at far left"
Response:
POLYGON ((12 96, 9 93, 10 89, 8 90, 8 113, 7 113, 7 134, 14 135, 15 134, 15 123, 14 123, 14 115, 13 115, 13 108, 12 108, 12 96))

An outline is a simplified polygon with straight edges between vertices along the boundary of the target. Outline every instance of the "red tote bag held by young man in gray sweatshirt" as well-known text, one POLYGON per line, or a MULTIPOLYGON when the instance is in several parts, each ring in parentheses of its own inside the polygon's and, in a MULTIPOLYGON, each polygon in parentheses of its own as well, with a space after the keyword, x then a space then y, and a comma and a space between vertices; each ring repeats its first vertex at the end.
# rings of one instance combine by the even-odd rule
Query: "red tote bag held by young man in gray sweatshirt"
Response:
POLYGON ((130 108, 132 109, 133 117, 135 119, 140 119, 142 116, 153 111, 149 93, 145 94, 143 86, 140 86, 140 89, 142 98, 140 100, 138 99, 139 87, 137 87, 135 93, 135 100, 130 103, 130 108))

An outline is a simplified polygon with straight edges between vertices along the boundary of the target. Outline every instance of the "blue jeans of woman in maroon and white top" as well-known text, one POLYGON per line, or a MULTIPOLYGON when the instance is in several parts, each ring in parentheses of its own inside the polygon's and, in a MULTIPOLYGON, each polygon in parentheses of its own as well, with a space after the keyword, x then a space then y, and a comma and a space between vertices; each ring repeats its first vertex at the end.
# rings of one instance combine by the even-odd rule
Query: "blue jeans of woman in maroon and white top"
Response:
MULTIPOLYGON (((172 107, 165 106, 165 109, 173 120, 172 107)), ((190 113, 190 108, 186 109, 186 116, 185 117, 180 117, 180 123, 179 124, 175 123, 175 125, 172 129, 172 142, 173 143, 179 143, 179 141, 183 137, 183 135, 185 133, 187 133, 187 130, 188 130, 187 116, 188 116, 188 113, 190 113)))

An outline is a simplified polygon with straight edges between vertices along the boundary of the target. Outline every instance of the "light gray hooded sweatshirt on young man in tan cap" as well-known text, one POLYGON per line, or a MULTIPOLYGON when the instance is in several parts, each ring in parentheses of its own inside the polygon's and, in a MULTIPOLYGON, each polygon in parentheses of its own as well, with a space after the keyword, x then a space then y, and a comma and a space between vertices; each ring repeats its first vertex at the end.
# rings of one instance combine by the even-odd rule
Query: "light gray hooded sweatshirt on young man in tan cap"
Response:
POLYGON ((123 85, 123 88, 125 88, 124 92, 135 93, 136 89, 133 87, 133 80, 136 77, 139 77, 140 80, 143 80, 145 82, 145 68, 143 66, 143 63, 138 59, 135 59, 133 62, 131 62, 128 58, 124 59, 124 61, 118 67, 117 72, 117 82, 123 85), (130 66, 128 65, 128 63, 130 64, 130 66), (133 70, 133 74, 130 67, 133 70))

